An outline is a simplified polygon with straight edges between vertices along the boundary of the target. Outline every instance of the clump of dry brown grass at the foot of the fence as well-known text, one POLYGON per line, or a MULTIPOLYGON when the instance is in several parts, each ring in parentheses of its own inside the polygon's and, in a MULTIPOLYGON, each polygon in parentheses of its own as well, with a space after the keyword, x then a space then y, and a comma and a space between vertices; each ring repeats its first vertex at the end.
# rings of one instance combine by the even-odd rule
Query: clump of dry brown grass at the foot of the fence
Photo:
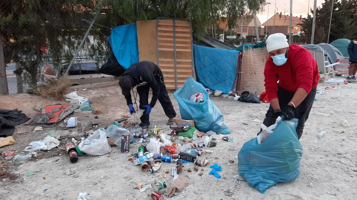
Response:
POLYGON ((70 81, 66 77, 57 80, 50 79, 41 85, 37 85, 32 90, 34 93, 44 97, 62 98, 68 93, 70 81))

